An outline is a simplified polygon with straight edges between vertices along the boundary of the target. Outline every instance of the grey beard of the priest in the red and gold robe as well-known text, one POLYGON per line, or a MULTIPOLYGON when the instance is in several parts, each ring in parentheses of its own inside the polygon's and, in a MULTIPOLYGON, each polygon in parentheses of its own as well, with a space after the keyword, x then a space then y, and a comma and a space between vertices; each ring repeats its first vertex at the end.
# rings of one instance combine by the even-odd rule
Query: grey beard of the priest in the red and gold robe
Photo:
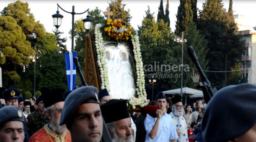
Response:
POLYGON ((49 123, 50 128, 52 129, 52 131, 54 131, 55 133, 58 134, 62 134, 65 131, 68 131, 66 125, 59 125, 60 120, 57 120, 56 117, 54 117, 54 115, 52 115, 52 120, 49 123))

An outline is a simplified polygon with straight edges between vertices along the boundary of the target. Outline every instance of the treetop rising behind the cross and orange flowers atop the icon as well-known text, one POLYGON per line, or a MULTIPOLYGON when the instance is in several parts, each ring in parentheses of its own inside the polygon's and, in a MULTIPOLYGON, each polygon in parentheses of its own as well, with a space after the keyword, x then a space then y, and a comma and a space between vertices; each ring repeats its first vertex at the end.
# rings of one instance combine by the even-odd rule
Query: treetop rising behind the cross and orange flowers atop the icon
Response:
POLYGON ((126 24, 130 24, 131 15, 130 10, 124 10, 126 4, 122 4, 123 0, 111 0, 109 3, 110 9, 113 11, 112 19, 123 19, 126 24))

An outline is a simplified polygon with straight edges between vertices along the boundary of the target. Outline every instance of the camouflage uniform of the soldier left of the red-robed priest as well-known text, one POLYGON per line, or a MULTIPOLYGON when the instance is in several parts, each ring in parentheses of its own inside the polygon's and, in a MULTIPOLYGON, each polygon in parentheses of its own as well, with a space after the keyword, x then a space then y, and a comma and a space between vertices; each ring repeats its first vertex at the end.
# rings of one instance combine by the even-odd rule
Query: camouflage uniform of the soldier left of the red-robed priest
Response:
POLYGON ((35 132, 40 130, 48 123, 48 120, 38 113, 38 110, 35 110, 29 116, 27 116, 27 131, 31 137, 35 132))

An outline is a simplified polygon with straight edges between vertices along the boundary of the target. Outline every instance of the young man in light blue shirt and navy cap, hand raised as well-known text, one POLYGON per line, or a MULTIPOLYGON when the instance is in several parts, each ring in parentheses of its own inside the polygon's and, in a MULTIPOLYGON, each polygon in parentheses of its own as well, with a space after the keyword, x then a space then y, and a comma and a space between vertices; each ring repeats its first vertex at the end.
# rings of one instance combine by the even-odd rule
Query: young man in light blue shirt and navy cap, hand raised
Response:
POLYGON ((161 110, 157 110, 157 118, 153 118, 147 114, 144 121, 146 130, 145 142, 177 142, 178 135, 176 133, 172 117, 165 113, 166 97, 163 92, 159 92, 155 97, 156 106, 161 110))

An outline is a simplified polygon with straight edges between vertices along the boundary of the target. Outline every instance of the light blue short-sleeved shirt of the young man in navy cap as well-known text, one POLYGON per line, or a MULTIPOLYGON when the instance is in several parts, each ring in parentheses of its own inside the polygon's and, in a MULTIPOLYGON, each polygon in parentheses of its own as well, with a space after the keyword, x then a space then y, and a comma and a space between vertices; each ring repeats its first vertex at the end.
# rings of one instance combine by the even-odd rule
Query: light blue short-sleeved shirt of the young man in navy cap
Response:
POLYGON ((149 133, 154 127, 156 121, 157 118, 153 118, 149 114, 147 114, 147 117, 144 121, 144 126, 146 130, 145 142, 169 142, 169 140, 178 138, 172 118, 167 113, 164 113, 159 120, 157 135, 154 139, 151 139, 149 137, 149 133))

